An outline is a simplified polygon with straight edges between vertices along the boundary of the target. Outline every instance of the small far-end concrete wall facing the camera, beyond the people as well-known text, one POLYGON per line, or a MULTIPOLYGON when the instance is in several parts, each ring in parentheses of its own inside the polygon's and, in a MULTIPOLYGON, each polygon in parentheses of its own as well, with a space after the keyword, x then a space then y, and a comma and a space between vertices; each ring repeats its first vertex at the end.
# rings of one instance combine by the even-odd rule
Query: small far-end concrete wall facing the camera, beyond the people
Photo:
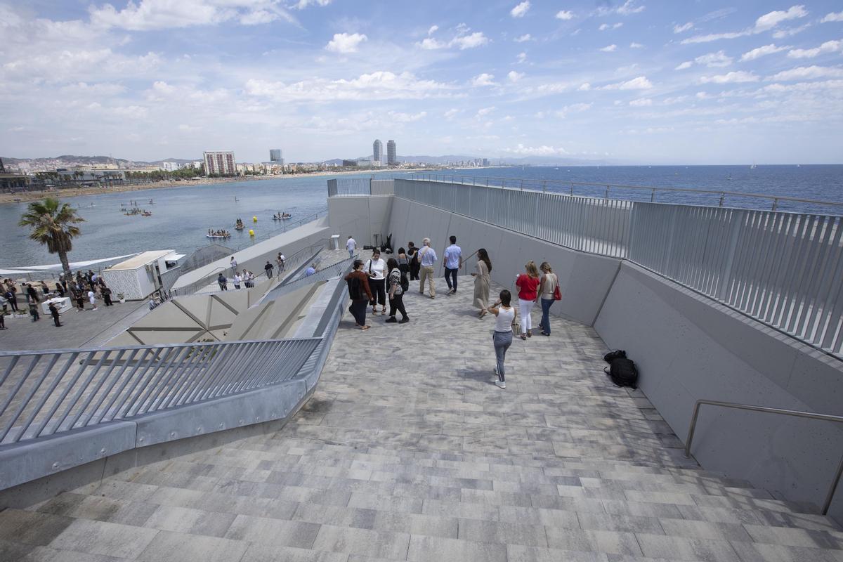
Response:
POLYGON ((345 247, 349 236, 357 241, 359 249, 373 245, 375 234, 383 235, 379 236, 379 244, 383 244, 391 232, 389 213, 394 199, 393 195, 329 197, 330 232, 340 235, 341 248, 345 247))

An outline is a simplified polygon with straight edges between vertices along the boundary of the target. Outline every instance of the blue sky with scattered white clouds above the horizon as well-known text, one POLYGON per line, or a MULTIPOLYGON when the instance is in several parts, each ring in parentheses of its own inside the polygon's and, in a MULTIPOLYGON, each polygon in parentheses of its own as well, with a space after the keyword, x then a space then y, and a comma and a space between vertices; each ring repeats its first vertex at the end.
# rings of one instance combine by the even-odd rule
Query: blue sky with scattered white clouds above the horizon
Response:
POLYGON ((839 0, 0 0, 0 156, 843 163, 839 0))

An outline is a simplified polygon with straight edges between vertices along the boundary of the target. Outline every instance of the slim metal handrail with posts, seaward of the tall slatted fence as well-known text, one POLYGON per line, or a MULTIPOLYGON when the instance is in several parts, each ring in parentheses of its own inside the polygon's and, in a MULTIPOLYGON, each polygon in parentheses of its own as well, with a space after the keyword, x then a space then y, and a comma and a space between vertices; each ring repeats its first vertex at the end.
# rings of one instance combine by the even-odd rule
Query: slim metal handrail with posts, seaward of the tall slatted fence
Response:
POLYGON ((829 206, 840 206, 843 207, 843 202, 840 201, 819 201, 814 199, 802 199, 799 197, 789 197, 786 195, 761 195, 758 193, 743 193, 740 191, 726 191, 726 190, 692 190, 689 188, 682 188, 682 187, 652 187, 652 186, 644 186, 644 185, 623 185, 623 184, 607 184, 607 183, 597 183, 597 182, 588 182, 588 181, 566 181, 564 179, 520 179, 520 178, 499 178, 494 176, 464 176, 464 175, 450 175, 450 174, 411 174, 411 179, 420 179, 424 181, 443 181, 448 183, 459 183, 464 185, 485 185, 486 187, 497 187, 496 185, 489 185, 489 180, 497 180, 501 182, 500 187, 505 189, 518 189, 521 191, 529 190, 529 191, 538 191, 537 189, 531 189, 529 185, 535 184, 542 184, 542 192, 546 192, 547 184, 558 184, 558 185, 570 185, 570 194, 573 195, 573 187, 574 185, 580 186, 590 186, 590 187, 599 187, 605 190, 604 199, 609 199, 609 190, 613 188, 622 189, 622 190, 642 190, 642 191, 650 191, 650 201, 655 200, 655 193, 657 191, 668 191, 668 192, 679 192, 679 193, 693 193, 693 194, 708 194, 708 195, 720 195, 720 202, 718 206, 723 206, 723 199, 726 195, 734 196, 734 197, 749 197, 749 198, 756 198, 756 199, 764 199, 767 201, 772 201, 772 211, 776 211, 778 208, 779 201, 792 201, 795 203, 810 203, 813 205, 829 205, 829 206), (448 181, 448 177, 451 179, 448 181), (459 181, 456 181, 459 179, 459 181), (470 179, 471 181, 465 181, 465 179, 470 179), (477 180, 480 179, 481 183, 478 184, 477 180), (486 183, 483 184, 482 180, 486 180, 486 183), (506 183, 510 182, 509 187, 507 188, 506 183), (527 182, 528 187, 524 187, 524 182, 527 182), (514 185, 513 185, 514 184, 514 185))

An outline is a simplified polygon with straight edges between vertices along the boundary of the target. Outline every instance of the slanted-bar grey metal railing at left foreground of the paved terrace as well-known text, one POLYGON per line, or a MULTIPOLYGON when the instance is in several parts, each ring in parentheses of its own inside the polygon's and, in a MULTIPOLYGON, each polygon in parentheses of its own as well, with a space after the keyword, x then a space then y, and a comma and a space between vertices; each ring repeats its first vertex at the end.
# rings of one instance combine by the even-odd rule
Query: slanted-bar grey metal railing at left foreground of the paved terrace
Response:
POLYGON ((196 404, 293 377, 321 340, 0 353, 0 443, 196 404))

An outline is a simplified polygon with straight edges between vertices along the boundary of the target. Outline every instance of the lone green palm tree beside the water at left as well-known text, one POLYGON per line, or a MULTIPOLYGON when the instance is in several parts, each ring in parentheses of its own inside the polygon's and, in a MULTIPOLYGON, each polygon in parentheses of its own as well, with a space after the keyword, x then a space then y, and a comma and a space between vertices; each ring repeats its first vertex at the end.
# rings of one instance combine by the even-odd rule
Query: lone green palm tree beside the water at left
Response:
POLYGON ((70 203, 46 197, 44 201, 30 203, 27 211, 21 215, 18 226, 30 227, 30 239, 46 244, 51 254, 58 254, 62 269, 70 276, 67 252, 72 249, 72 238, 82 233, 78 227, 73 226, 78 222, 85 222, 85 219, 76 214, 70 203))

